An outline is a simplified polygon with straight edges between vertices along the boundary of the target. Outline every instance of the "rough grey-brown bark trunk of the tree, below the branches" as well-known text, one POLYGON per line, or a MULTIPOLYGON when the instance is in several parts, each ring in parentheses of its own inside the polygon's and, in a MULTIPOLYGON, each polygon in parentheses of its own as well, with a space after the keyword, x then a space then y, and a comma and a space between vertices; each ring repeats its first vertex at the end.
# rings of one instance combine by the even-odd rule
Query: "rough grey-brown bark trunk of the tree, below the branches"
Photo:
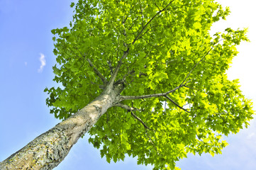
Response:
POLYGON ((12 154, 0 169, 53 169, 67 156, 79 137, 88 132, 97 120, 118 101, 123 86, 107 88, 99 97, 74 115, 55 125, 12 154))

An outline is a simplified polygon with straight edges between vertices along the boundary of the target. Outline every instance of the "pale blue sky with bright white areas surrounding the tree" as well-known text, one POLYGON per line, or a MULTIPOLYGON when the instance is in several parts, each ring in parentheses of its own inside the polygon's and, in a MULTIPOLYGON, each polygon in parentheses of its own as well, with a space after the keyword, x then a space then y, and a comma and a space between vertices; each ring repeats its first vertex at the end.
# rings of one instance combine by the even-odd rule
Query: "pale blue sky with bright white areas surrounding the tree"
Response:
MULTIPOLYGON (((240 79, 247 98, 256 103, 255 1, 219 0, 232 11, 227 21, 213 26, 213 32, 227 27, 249 27, 250 43, 238 47, 238 57, 228 70, 229 79, 240 79)), ((35 137, 60 122, 45 105, 46 86, 53 86, 53 42, 50 30, 68 26, 72 9, 68 0, 0 0, 0 161, 21 149, 35 137)), ((255 105, 254 105, 255 106, 255 105)), ((256 108, 256 107, 254 107, 256 108)), ((230 145, 223 154, 194 156, 177 162, 189 169, 256 169, 256 122, 225 139, 230 145)), ((133 158, 108 164, 99 150, 80 139, 65 160, 55 168, 66 169, 152 169, 138 166, 133 158)))

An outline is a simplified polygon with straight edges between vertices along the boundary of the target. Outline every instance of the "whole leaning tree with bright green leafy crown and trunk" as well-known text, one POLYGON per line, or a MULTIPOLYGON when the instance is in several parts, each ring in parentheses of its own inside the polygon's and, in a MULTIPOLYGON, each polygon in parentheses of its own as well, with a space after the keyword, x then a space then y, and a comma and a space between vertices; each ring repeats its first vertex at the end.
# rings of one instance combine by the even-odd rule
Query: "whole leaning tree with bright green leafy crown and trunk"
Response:
POLYGON ((46 103, 63 121, 0 169, 52 169, 88 131, 108 162, 174 169, 188 152, 221 153, 253 114, 225 74, 246 30, 208 33, 228 13, 211 0, 78 1, 69 28, 52 30, 60 86, 46 103))

